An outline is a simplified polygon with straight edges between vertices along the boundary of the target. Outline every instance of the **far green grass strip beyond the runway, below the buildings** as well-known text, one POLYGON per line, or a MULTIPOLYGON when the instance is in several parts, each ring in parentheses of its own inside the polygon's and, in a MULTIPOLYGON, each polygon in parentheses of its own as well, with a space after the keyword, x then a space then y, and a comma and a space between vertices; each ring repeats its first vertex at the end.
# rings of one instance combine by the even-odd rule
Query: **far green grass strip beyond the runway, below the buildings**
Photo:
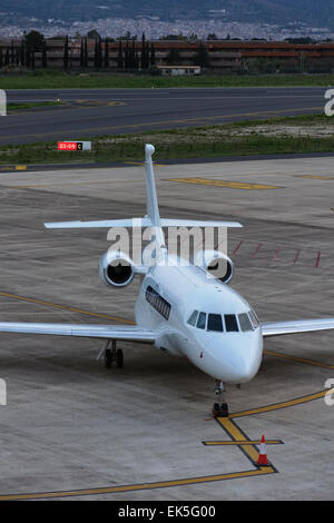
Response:
POLYGON ((173 87, 333 87, 334 75, 265 75, 160 77, 149 75, 87 73, 37 70, 27 75, 0 76, 0 89, 61 88, 173 88, 173 87))

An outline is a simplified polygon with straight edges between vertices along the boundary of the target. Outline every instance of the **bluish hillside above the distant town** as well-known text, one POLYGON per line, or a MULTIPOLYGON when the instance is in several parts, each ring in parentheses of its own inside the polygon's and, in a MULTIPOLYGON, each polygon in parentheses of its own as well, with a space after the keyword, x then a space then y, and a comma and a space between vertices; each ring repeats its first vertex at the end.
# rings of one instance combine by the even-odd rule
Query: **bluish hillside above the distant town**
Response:
POLYGON ((80 0, 46 2, 45 0, 0 0, 2 21, 31 17, 66 22, 98 18, 135 18, 155 16, 161 20, 223 18, 226 21, 307 26, 334 29, 333 0, 80 0), (225 12, 224 12, 225 10, 225 12))

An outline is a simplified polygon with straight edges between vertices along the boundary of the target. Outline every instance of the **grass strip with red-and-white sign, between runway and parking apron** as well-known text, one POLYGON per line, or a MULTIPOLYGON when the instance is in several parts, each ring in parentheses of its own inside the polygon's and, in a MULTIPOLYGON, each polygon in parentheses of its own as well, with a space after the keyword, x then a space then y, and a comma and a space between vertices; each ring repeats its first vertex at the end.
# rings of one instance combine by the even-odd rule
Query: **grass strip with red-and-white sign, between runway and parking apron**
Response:
POLYGON ((144 145, 147 142, 156 147, 156 161, 334 152, 334 117, 312 115, 273 118, 145 134, 99 136, 91 138, 91 152, 58 151, 55 141, 1 146, 0 165, 141 161, 144 145))

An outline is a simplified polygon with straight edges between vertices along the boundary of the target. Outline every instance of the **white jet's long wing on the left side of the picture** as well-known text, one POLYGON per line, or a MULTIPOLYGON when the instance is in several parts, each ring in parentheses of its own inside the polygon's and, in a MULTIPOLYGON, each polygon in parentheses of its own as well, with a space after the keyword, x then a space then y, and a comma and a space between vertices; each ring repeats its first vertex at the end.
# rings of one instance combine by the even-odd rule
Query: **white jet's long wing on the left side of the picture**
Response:
POLYGON ((57 323, 0 322, 1 333, 51 334, 89 338, 120 339, 154 344, 156 334, 137 325, 72 325, 57 323))

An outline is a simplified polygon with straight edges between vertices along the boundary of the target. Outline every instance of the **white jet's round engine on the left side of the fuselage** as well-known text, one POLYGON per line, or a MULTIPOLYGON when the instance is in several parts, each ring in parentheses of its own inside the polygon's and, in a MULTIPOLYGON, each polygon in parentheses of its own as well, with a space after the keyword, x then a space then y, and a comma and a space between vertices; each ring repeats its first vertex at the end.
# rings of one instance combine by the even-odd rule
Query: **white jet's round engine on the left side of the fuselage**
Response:
POLYGON ((126 287, 135 274, 132 260, 125 253, 108 251, 100 258, 99 277, 107 286, 126 287))

